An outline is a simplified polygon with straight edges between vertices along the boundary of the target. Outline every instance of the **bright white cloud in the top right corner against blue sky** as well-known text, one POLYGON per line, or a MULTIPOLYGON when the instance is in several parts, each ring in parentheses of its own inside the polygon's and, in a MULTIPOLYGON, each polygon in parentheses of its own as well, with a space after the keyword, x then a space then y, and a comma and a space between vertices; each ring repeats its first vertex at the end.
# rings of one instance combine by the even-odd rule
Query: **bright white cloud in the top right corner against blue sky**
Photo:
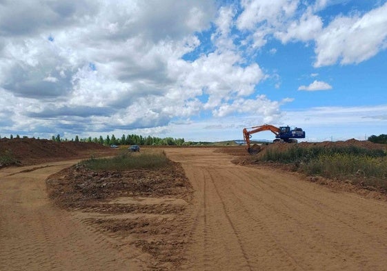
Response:
POLYGON ((360 63, 387 48, 387 3, 362 17, 335 18, 316 38, 315 67, 360 63))

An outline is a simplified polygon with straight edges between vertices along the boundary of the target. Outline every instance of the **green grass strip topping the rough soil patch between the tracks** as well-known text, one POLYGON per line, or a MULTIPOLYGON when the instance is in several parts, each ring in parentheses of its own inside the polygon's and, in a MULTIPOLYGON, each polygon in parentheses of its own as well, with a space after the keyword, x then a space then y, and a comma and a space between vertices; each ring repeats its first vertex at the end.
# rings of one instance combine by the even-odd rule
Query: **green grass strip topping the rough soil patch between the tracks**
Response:
POLYGON ((121 152, 112 158, 90 158, 81 164, 92 170, 144 170, 163 168, 170 164, 164 152, 121 152))

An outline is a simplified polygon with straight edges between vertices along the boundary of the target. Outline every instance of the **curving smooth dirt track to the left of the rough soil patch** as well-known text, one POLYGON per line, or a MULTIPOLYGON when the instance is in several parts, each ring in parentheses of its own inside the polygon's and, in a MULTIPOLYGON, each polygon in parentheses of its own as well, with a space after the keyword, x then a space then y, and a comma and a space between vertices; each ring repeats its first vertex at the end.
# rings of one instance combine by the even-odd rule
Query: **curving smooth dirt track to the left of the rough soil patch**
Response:
POLYGON ((45 179, 77 161, 0 170, 0 270, 130 270, 114 243, 52 205, 45 179))

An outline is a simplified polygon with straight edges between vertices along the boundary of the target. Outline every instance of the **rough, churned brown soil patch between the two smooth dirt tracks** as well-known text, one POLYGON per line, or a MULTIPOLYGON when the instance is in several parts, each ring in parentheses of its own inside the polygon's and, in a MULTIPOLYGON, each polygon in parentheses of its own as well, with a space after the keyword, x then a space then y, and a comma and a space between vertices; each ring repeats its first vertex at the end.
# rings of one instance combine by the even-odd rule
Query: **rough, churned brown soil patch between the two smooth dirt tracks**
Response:
POLYGON ((179 270, 193 190, 178 163, 128 171, 74 165, 50 176, 46 185, 61 208, 76 211, 92 228, 148 255, 147 270, 179 270))

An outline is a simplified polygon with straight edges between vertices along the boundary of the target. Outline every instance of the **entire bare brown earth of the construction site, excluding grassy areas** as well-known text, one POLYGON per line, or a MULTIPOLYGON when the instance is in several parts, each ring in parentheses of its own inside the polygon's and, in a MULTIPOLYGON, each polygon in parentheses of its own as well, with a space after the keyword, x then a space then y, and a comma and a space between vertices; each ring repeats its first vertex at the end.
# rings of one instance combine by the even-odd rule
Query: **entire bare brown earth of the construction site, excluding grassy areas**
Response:
POLYGON ((0 170, 0 270, 387 270, 383 193, 246 163, 243 146, 100 172, 78 162, 116 150, 15 142, 0 139, 18 159, 0 170))

